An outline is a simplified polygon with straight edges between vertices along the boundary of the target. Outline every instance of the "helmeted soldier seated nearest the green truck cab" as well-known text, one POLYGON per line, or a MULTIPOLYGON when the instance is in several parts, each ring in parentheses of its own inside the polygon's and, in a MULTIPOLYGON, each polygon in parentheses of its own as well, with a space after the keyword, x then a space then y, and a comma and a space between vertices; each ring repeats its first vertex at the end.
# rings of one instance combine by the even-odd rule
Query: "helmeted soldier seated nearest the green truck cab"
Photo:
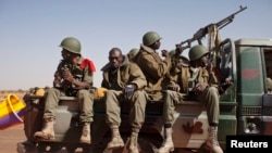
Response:
POLYGON ((190 60, 190 87, 197 99, 207 106, 209 122, 209 137, 206 145, 214 153, 223 153, 218 142, 219 125, 219 81, 209 67, 209 51, 203 46, 194 46, 189 50, 190 60))

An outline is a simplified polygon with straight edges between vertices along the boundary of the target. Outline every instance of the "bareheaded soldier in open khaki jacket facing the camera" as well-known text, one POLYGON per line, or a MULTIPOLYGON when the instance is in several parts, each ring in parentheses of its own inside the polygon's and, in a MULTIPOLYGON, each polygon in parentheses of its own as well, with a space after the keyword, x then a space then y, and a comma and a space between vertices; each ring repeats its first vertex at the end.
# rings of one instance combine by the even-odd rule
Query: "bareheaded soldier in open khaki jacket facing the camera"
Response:
POLYGON ((101 87, 106 91, 107 124, 112 133, 112 139, 106 150, 124 146, 120 136, 121 102, 129 102, 129 123, 132 133, 127 141, 128 152, 138 153, 138 132, 145 122, 146 92, 143 90, 147 85, 145 75, 137 64, 129 62, 119 48, 112 48, 109 52, 109 63, 102 67, 103 80, 101 87))

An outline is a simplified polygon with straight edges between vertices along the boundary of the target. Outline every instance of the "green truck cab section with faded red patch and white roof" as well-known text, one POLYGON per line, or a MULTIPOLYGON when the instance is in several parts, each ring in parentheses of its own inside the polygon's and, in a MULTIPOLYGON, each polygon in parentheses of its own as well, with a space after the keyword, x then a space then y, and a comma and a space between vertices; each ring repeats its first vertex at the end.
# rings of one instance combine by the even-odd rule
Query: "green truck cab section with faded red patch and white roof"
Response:
POLYGON ((271 100, 268 94, 265 59, 269 39, 238 39, 237 55, 237 135, 271 133, 271 100), (270 127, 270 128, 268 128, 270 127))

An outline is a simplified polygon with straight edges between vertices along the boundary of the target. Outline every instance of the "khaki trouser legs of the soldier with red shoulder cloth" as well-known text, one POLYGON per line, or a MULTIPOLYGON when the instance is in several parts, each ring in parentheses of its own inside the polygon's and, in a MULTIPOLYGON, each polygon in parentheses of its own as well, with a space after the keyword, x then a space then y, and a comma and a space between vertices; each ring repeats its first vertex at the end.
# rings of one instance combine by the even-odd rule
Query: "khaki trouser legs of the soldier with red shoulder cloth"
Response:
MULTIPOLYGON (((65 95, 63 91, 55 88, 50 88, 46 93, 44 118, 55 118, 57 106, 59 105, 60 97, 65 95)), ((94 120, 94 94, 89 90, 78 90, 76 98, 79 104, 79 119, 82 123, 91 123, 94 120)))

